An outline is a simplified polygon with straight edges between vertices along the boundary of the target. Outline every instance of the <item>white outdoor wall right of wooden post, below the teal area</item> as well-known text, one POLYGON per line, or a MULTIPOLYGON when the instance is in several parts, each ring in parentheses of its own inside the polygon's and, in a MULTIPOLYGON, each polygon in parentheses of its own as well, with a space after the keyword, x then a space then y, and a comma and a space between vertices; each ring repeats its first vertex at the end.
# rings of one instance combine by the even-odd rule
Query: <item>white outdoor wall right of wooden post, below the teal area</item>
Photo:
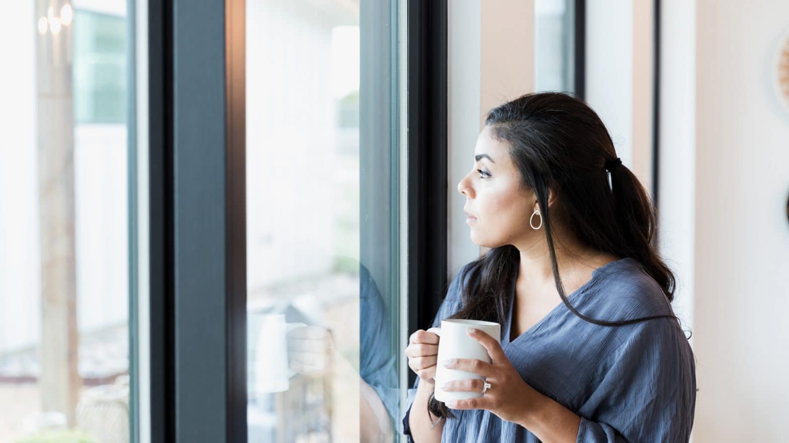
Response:
MULTIPOLYGON (((126 125, 74 128, 77 322, 80 332, 129 318, 126 125)), ((36 169, 30 171, 36 175, 36 169)), ((36 204, 38 199, 32 200, 36 204)))

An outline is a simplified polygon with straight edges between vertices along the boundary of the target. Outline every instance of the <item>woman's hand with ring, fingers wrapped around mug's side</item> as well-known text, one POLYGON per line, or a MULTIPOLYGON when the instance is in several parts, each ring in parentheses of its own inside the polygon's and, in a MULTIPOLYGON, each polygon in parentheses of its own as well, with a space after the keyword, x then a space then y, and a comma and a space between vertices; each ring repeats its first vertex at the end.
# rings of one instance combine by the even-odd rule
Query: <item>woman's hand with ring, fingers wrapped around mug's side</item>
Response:
POLYGON ((480 374, 485 380, 454 380, 447 382, 443 390, 481 393, 485 382, 490 383, 491 387, 479 398, 447 401, 447 408, 486 409, 508 422, 524 423, 527 415, 540 408, 540 400, 545 397, 523 381, 493 337, 479 329, 473 329, 469 336, 488 350, 493 363, 478 359, 447 359, 448 364, 445 366, 480 374))

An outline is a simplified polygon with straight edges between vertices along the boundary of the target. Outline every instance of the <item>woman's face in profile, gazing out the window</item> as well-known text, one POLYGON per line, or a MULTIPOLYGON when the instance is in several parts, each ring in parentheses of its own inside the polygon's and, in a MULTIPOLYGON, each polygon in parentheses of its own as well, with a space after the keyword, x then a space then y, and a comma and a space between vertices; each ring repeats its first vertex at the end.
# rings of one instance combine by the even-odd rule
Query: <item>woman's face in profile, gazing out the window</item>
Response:
MULTIPOLYGON (((480 246, 497 248, 505 244, 529 244, 542 229, 529 226, 537 209, 534 193, 521 184, 520 172, 510 161, 507 143, 495 140, 485 128, 474 147, 473 168, 458 183, 458 192, 466 195, 463 210, 470 217, 471 240, 480 246)), ((540 225, 540 217, 534 217, 540 225)))

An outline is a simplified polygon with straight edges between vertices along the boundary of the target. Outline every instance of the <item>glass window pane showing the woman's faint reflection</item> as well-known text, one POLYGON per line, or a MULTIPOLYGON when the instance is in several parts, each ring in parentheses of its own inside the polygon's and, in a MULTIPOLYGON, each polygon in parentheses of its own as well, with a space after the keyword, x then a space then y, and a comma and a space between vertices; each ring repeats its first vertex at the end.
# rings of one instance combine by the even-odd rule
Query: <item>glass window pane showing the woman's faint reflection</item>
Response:
POLYGON ((397 438, 394 6, 246 3, 250 443, 397 438))

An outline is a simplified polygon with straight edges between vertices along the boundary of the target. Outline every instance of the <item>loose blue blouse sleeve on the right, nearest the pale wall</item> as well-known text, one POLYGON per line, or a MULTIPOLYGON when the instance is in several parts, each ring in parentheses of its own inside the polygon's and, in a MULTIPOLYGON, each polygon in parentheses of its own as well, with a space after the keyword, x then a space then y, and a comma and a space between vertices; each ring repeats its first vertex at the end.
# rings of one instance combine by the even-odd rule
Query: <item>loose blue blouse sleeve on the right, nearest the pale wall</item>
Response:
POLYGON ((579 412, 577 443, 689 441, 695 363, 679 325, 671 318, 638 323, 613 362, 579 412))

